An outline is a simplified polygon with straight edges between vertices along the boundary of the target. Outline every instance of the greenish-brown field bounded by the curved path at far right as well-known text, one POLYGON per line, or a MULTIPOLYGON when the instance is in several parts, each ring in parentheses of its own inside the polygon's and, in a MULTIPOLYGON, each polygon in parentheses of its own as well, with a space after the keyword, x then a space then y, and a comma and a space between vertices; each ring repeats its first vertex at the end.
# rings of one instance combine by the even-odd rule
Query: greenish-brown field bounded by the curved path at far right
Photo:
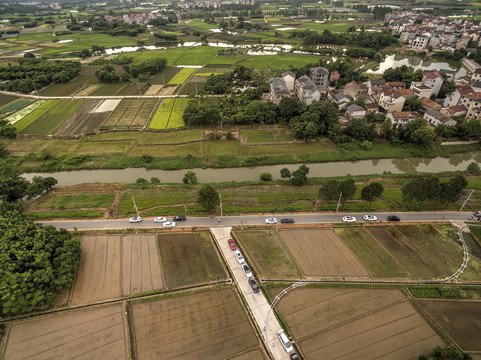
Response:
MULTIPOLYGON (((462 263, 461 246, 432 225, 337 228, 336 232, 374 277, 444 278, 462 263)), ((479 278, 472 258, 461 279, 479 278)))

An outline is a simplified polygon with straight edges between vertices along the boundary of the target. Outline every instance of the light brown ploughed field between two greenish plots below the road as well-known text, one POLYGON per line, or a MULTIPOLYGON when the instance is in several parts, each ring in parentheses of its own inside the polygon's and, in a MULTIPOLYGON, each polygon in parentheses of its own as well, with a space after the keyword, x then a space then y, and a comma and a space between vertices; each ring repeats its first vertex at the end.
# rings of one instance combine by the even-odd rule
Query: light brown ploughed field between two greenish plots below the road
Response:
POLYGON ((305 276, 370 276, 333 230, 288 230, 279 234, 305 276))

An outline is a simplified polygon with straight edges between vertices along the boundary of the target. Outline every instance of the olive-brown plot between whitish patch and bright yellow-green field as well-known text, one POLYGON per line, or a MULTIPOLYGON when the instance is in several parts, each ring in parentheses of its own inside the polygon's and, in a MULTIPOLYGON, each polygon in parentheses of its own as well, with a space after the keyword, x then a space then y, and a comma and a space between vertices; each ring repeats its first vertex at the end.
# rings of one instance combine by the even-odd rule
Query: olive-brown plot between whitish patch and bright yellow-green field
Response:
POLYGON ((149 120, 158 100, 123 99, 103 124, 112 128, 143 127, 149 120))

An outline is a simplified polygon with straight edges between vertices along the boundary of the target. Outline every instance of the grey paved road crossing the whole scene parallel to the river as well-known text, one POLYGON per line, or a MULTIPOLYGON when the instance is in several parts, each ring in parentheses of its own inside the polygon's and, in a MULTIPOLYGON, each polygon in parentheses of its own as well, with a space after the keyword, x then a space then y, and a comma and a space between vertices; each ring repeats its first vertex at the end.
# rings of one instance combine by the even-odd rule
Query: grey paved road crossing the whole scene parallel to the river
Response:
MULTIPOLYGON (((317 213, 317 214, 295 214, 295 215, 247 215, 247 216, 219 216, 210 217, 187 217, 187 221, 177 222, 177 227, 226 227, 240 225, 265 225, 265 220, 269 217, 275 217, 278 220, 282 218, 292 218, 296 224, 328 224, 342 222, 344 215, 355 216, 358 222, 363 222, 362 216, 366 213, 317 213), (220 222, 219 222, 220 219, 220 222)), ((378 220, 387 221, 388 215, 398 215, 401 222, 413 221, 448 221, 448 220, 468 220, 472 216, 472 212, 404 212, 404 213, 374 213, 378 220)), ((170 220, 170 219, 169 219, 170 220)), ((155 223, 153 218, 144 218, 140 223, 131 224, 128 219, 112 219, 112 220, 57 220, 42 221, 43 224, 54 225, 58 228, 67 230, 120 230, 120 229, 149 229, 162 228, 162 224, 155 223)))

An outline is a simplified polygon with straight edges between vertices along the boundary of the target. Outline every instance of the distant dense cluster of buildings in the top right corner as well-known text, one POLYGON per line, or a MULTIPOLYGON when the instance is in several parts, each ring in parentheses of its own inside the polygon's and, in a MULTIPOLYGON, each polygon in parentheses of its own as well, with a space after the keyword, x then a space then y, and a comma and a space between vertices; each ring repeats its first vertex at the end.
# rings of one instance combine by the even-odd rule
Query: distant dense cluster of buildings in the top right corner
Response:
POLYGON ((481 40, 480 28, 472 20, 414 11, 390 13, 385 20, 392 34, 399 35, 400 42, 412 49, 466 49, 470 40, 476 46, 481 40))

